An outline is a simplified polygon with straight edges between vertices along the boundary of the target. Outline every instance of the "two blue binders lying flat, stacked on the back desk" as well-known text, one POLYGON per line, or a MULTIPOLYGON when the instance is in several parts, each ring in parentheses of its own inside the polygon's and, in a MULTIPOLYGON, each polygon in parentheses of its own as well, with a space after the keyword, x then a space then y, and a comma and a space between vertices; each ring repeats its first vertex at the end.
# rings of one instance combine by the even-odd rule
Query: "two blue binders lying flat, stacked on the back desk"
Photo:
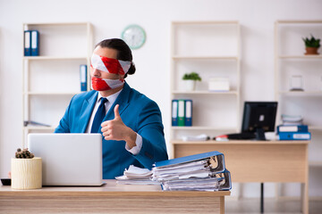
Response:
POLYGON ((277 135, 279 140, 309 140, 311 138, 307 125, 279 125, 277 135))

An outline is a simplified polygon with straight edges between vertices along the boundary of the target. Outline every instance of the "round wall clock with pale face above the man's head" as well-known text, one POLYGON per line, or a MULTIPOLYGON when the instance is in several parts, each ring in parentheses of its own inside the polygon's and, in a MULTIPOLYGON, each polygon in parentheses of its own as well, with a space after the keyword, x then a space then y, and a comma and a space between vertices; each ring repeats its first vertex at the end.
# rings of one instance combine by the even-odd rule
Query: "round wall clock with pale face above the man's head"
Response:
POLYGON ((129 25, 122 32, 122 39, 131 49, 139 49, 144 45, 147 35, 139 25, 129 25))

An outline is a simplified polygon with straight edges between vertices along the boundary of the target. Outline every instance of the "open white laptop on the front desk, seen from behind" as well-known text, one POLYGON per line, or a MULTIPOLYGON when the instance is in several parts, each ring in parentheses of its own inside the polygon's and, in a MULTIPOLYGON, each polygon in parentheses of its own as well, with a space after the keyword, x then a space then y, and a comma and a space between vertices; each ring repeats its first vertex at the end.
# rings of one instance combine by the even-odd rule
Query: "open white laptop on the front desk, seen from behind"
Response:
POLYGON ((100 134, 29 134, 28 148, 42 159, 42 185, 102 185, 100 134))

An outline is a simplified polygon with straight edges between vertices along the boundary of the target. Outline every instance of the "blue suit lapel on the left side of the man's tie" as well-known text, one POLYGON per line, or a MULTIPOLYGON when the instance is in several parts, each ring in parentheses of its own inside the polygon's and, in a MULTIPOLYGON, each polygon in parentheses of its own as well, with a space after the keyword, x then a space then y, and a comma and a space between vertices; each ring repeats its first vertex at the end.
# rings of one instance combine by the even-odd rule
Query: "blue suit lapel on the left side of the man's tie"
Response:
POLYGON ((91 113, 94 109, 95 103, 97 102, 97 95, 97 92, 91 95, 89 99, 84 100, 84 103, 81 106, 80 121, 84 122, 79 123, 80 125, 82 125, 82 127, 80 127, 80 133, 85 133, 86 128, 89 125, 91 113))

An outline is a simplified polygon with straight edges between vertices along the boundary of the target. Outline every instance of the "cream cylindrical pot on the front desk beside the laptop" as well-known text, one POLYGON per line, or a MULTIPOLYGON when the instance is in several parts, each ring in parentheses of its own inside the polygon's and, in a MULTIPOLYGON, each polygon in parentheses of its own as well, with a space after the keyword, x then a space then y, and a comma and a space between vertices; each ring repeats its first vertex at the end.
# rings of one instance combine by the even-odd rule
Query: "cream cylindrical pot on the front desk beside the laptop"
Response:
POLYGON ((12 159, 11 175, 13 189, 40 189, 42 187, 41 158, 12 159))

